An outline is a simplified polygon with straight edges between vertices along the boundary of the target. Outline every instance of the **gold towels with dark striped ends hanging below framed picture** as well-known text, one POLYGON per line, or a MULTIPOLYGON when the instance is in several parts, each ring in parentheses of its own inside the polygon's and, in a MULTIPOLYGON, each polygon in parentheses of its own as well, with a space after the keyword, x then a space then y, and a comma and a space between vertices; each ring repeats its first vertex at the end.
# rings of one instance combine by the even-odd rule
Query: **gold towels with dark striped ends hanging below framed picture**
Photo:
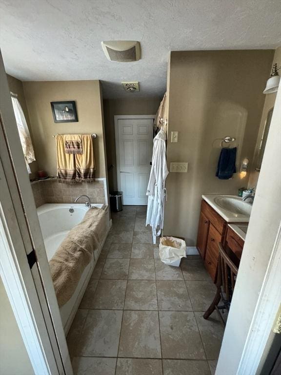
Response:
POLYGON ((57 170, 59 182, 94 182, 96 162, 90 134, 58 134, 57 170))

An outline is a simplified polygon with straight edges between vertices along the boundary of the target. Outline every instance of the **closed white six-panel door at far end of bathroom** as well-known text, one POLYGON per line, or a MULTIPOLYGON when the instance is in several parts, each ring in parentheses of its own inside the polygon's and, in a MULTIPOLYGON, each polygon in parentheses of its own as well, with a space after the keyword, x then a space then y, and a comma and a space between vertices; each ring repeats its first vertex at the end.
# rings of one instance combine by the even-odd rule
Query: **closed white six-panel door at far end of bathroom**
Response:
POLYGON ((147 205, 153 119, 153 115, 115 116, 117 179, 123 205, 147 205))

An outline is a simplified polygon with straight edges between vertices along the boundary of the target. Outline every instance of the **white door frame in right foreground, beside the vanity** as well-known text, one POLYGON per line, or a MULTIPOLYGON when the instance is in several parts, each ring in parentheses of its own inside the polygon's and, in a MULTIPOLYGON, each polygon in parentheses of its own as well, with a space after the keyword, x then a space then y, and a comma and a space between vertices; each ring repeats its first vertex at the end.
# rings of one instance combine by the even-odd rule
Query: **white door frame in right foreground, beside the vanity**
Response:
POLYGON ((281 82, 216 375, 260 374, 281 303, 281 82))

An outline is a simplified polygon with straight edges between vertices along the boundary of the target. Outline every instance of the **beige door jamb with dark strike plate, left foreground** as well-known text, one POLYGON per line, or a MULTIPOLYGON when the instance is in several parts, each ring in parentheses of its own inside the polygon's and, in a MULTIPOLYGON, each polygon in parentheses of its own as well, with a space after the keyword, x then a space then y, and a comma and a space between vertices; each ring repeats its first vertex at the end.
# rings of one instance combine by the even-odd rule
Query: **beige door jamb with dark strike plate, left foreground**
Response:
MULTIPOLYGON (((49 369, 48 374, 72 375, 73 371, 60 318, 60 310, 20 144, 20 136, 1 54, 0 82, 0 159, 3 167, 3 181, 6 181, 12 204, 12 209, 9 209, 5 200, 1 201, 2 216, 9 223, 12 213, 14 213, 13 220, 17 221, 20 237, 19 235, 16 237, 16 234, 12 233, 13 235, 10 238, 13 238, 14 241, 18 240, 18 243, 21 240, 23 243, 21 247, 14 247, 15 252, 9 261, 12 262, 14 276, 22 280, 22 286, 25 290, 24 298, 33 316, 32 324, 41 344, 38 350, 42 351, 42 356, 45 358, 46 369, 49 369), (27 255, 31 252, 34 252, 36 262, 29 267, 27 255)), ((4 228, 6 229, 6 237, 9 239, 10 225, 4 226, 4 228)), ((12 251, 11 248, 10 251, 12 251)), ((12 281, 13 272, 5 275, 6 286, 12 281)), ((13 298, 13 295, 11 293, 9 295, 8 291, 7 294, 9 299, 13 298)), ((19 299, 14 300, 14 302, 19 303, 19 299)), ((13 301, 10 300, 10 303, 13 308, 13 301)), ((24 311, 20 309, 20 305, 17 306, 14 313, 17 317, 17 311, 20 312, 18 318, 21 321, 24 318, 24 311)), ((16 308, 15 304, 14 308, 16 308)), ((24 324, 24 320, 22 320, 22 324, 24 324)), ((26 338, 29 339, 29 336, 27 335, 26 338)), ((38 373, 40 374, 40 372, 38 373)))

